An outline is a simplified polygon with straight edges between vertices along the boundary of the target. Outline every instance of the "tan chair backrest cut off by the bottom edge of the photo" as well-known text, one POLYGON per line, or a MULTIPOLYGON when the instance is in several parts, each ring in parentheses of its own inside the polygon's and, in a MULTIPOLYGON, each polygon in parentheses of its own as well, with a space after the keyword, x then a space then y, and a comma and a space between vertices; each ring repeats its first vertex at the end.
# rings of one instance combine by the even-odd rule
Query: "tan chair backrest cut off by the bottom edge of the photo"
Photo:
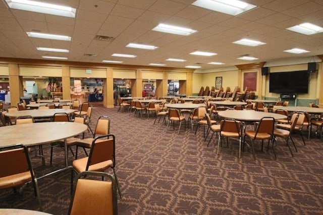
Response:
POLYGON ((105 172, 85 171, 80 173, 76 180, 69 215, 118 214, 117 185, 112 175, 105 172), (92 179, 85 178, 87 176, 92 177, 92 179), (110 181, 95 180, 93 176, 109 178, 110 181))

